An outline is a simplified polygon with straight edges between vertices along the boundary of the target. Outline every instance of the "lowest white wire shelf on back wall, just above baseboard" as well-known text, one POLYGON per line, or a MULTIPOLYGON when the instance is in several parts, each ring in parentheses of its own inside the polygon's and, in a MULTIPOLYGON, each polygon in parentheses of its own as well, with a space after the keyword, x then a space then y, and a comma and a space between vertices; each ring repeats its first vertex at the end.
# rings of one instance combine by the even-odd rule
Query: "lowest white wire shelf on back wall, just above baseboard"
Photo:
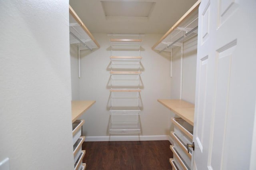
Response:
POLYGON ((109 128, 110 134, 139 134, 139 122, 111 122, 109 128))

